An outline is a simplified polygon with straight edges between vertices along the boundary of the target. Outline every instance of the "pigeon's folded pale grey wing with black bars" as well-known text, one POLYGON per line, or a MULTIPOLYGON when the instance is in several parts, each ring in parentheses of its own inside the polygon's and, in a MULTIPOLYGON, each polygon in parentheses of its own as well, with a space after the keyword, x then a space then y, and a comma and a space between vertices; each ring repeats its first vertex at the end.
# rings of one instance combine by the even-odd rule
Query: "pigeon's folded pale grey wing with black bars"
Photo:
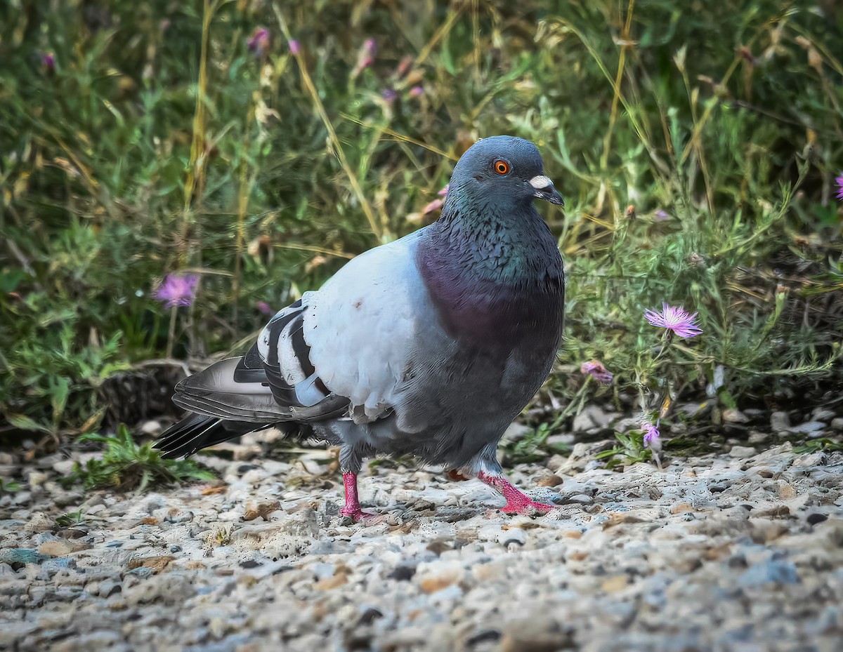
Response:
POLYGON ((268 423, 344 414, 365 423, 389 414, 432 319, 415 243, 411 234, 352 259, 277 313, 242 358, 180 382, 174 402, 223 420, 268 423))

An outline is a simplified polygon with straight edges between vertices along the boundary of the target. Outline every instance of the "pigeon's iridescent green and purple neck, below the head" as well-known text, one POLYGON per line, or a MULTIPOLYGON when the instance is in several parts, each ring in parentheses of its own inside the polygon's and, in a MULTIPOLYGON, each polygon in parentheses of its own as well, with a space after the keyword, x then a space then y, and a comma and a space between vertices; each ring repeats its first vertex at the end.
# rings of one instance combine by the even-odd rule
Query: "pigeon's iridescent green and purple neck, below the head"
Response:
POLYGON ((564 272, 556 240, 533 206, 466 214, 447 206, 416 249, 421 278, 457 339, 505 348, 553 345, 561 332, 564 272))

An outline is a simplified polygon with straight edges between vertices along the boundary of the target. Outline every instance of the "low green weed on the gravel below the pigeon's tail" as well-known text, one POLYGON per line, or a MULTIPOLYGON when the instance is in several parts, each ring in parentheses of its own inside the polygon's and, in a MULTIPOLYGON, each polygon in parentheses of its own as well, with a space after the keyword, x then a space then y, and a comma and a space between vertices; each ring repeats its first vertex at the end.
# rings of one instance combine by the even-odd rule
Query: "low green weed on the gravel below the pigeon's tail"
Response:
MULTIPOLYGON (((152 443, 138 446, 131 431, 121 425, 115 436, 86 434, 77 441, 97 441, 104 445, 101 459, 91 459, 84 466, 78 462, 67 483, 82 481, 85 489, 142 491, 153 484, 174 484, 193 480, 212 480, 213 473, 193 460, 163 460, 152 443)), ((67 515, 72 516, 72 515, 67 515)), ((79 515, 82 518, 82 515, 79 515)))

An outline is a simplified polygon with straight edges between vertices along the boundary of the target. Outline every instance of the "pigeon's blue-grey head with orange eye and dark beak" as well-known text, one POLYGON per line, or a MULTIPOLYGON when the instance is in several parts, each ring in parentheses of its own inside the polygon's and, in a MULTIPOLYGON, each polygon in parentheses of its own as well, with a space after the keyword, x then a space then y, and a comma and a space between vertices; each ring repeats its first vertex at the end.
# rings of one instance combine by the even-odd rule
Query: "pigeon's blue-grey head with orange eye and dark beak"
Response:
POLYGON ((457 204, 528 205, 543 199, 564 206, 545 162, 532 142, 515 136, 492 136, 475 142, 454 167, 448 200, 457 204))

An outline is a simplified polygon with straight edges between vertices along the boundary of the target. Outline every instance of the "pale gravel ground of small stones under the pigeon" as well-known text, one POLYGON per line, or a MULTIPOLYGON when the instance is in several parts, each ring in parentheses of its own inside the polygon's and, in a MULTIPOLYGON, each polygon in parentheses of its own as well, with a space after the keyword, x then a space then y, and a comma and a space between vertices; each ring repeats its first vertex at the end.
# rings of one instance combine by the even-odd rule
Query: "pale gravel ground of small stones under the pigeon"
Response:
POLYGON ((0 649, 843 649, 843 454, 613 472, 576 452, 513 470, 560 505, 535 519, 476 481, 377 468, 362 503, 389 522, 370 527, 341 522, 325 452, 125 496, 63 490, 72 462, 47 460, 0 502, 0 649))

